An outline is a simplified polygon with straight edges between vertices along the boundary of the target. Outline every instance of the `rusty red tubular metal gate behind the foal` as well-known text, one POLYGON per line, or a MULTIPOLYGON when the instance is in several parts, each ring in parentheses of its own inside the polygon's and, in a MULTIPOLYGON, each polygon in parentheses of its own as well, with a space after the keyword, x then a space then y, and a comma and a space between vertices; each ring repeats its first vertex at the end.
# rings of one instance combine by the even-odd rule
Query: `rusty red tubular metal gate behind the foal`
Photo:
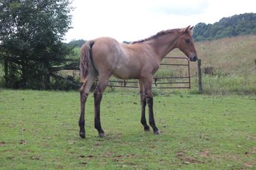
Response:
MULTIPOLYGON (((162 62, 161 66, 173 66, 173 67, 183 67, 186 69, 187 74, 184 75, 172 75, 172 76, 156 76, 153 78, 152 88, 190 88, 190 69, 189 69, 189 59, 187 57, 165 57, 165 61, 170 60, 171 62, 162 62), (177 62, 179 61, 179 63, 177 62), (181 63, 181 61, 183 63, 181 63), (165 86, 162 86, 165 85, 165 86)), ((159 72, 159 71, 157 71, 159 72)), ((113 78, 110 79, 110 88, 138 88, 138 80, 120 80, 113 78)))

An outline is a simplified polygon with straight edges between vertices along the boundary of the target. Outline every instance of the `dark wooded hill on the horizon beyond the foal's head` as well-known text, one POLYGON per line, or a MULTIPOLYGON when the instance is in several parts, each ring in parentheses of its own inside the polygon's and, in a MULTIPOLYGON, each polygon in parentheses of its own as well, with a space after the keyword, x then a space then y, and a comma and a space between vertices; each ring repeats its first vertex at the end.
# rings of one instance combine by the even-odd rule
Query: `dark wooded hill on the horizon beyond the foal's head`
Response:
POLYGON ((214 24, 198 23, 193 37, 199 42, 248 34, 256 34, 256 13, 233 15, 214 24))

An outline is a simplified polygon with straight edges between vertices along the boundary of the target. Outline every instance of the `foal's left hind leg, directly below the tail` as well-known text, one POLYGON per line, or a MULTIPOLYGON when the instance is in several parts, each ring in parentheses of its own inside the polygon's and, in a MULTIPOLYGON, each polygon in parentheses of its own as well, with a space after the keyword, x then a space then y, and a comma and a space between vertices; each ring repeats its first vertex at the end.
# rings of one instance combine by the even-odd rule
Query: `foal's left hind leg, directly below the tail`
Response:
POLYGON ((89 92, 91 89, 91 86, 94 84, 96 75, 94 73, 91 73, 88 75, 85 82, 83 82, 82 87, 80 88, 80 118, 78 121, 80 131, 79 135, 81 138, 86 137, 86 130, 85 130, 85 105, 86 105, 86 99, 89 96, 89 92))

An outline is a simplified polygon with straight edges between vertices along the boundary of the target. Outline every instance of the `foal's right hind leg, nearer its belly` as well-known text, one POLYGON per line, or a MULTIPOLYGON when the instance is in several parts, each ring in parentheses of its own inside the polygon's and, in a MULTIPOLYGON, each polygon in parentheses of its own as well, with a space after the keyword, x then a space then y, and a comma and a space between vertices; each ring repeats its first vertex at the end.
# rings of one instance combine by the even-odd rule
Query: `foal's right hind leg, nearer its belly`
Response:
POLYGON ((105 137, 105 132, 103 131, 100 123, 100 103, 102 101, 102 94, 108 85, 109 77, 110 75, 107 76, 99 74, 99 82, 94 91, 94 128, 97 129, 100 137, 105 137))

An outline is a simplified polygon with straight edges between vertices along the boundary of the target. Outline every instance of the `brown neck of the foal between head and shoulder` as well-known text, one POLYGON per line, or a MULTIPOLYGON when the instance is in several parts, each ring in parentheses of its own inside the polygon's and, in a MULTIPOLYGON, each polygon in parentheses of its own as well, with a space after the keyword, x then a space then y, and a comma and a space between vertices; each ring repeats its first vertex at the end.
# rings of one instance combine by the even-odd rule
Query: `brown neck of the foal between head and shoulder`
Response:
POLYGON ((178 33, 161 35, 155 39, 149 40, 148 44, 154 48, 157 57, 162 61, 162 58, 165 58, 171 50, 177 47, 176 40, 179 36, 180 34, 178 33))

